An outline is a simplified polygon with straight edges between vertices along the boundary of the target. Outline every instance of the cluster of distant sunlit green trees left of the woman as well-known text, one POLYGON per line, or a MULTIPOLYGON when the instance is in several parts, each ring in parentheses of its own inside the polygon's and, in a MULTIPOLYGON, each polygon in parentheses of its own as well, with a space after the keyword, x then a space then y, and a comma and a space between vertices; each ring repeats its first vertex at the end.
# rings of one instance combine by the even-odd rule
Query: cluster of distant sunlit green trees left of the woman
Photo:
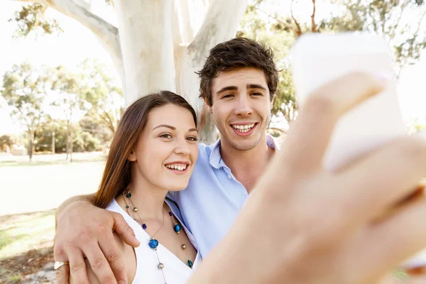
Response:
MULTIPOLYGON (((123 103, 116 81, 94 60, 85 60, 74 70, 13 65, 0 90, 13 120, 28 132, 30 160, 33 151, 67 153, 72 160, 72 152, 108 147, 123 103)), ((5 137, 0 150, 11 144, 5 137)))

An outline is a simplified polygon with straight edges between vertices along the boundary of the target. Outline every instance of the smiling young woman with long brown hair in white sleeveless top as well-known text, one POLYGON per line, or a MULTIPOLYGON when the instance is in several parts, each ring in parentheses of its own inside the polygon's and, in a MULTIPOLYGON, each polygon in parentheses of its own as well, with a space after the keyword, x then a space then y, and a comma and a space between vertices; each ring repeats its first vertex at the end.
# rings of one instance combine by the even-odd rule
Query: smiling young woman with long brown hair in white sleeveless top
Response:
MULTIPOLYGON (((123 215, 141 242, 133 249, 116 236, 129 283, 185 283, 200 262, 195 239, 166 198, 187 186, 197 134, 194 109, 172 92, 138 99, 120 120, 95 204, 123 215)), ((99 283, 87 269, 90 283, 99 283)))

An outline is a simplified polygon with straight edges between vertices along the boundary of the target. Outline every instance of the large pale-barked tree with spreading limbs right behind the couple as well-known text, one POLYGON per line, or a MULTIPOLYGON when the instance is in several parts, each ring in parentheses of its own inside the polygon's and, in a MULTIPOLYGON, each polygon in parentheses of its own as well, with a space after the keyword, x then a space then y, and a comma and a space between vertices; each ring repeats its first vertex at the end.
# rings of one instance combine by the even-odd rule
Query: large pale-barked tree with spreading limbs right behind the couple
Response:
POLYGON ((195 71, 214 45, 236 36, 248 0, 210 0, 195 38, 188 0, 114 0, 118 29, 89 11, 85 1, 38 1, 75 18, 102 41, 121 75, 126 107, 160 89, 177 92, 202 122, 201 141, 214 141, 217 132, 208 112, 202 111, 195 71))

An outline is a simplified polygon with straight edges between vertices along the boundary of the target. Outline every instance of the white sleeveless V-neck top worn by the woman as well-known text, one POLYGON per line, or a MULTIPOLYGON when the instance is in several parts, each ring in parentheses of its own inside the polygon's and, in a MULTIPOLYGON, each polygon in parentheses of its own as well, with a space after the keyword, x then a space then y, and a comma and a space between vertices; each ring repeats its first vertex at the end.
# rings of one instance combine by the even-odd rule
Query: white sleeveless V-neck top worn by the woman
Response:
MULTIPOLYGON (((188 231, 186 226, 181 221, 181 216, 177 205, 171 201, 166 199, 165 202, 168 204, 170 209, 172 209, 175 218, 179 220, 180 224, 182 224, 183 229, 190 239, 192 246, 198 251, 197 243, 195 242, 194 236, 192 236, 191 232, 188 231)), ((120 207, 120 205, 113 200, 106 208, 109 211, 116 212, 121 214, 126 220, 127 224, 131 226, 131 229, 136 234, 136 239, 141 242, 141 245, 135 248, 136 255, 136 274, 133 278, 134 284, 138 283, 149 283, 149 284, 185 284, 186 281, 192 275, 192 272, 197 268, 201 261, 200 253, 197 252, 197 256, 195 258, 192 269, 183 263, 177 256, 175 256, 171 251, 158 244, 157 253, 158 258, 160 258, 161 263, 164 264, 163 273, 165 277, 165 281, 163 278, 163 273, 161 273, 160 269, 158 269, 158 258, 155 255, 155 251, 148 246, 148 242, 150 241, 148 233, 142 229, 142 227, 136 223, 133 218, 127 214, 124 209, 120 207)))

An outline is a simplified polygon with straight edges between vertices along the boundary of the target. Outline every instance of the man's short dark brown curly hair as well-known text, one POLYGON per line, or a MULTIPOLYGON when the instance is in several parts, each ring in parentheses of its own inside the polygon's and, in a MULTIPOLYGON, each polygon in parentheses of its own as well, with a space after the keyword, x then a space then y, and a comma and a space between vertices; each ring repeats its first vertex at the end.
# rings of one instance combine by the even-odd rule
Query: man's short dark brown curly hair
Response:
POLYGON ((273 62, 273 51, 264 43, 249 38, 234 38, 219 43, 210 50, 204 67, 197 74, 200 76, 200 98, 205 99, 211 107, 212 82, 222 71, 243 67, 252 67, 263 71, 268 83, 271 101, 278 86, 278 69, 273 62))

